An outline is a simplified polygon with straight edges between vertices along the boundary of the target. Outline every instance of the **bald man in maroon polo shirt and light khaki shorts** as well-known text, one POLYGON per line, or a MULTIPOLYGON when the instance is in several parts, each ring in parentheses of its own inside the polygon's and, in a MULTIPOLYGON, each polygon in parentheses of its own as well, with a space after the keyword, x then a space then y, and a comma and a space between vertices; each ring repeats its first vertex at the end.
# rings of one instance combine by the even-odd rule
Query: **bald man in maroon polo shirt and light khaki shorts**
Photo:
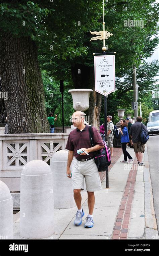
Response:
POLYGON ((94 151, 98 151, 104 147, 100 133, 95 127, 92 127, 93 139, 95 146, 92 147, 90 143, 88 125, 84 124, 84 113, 76 111, 72 115, 72 123, 76 129, 70 132, 66 149, 68 152, 67 161, 67 177, 72 178, 74 200, 77 205, 76 218, 74 225, 79 226, 82 223, 84 211, 81 207, 81 190, 84 190, 84 178, 86 181, 86 189, 88 193, 88 208, 89 214, 86 217, 85 227, 93 227, 93 209, 95 204, 94 191, 101 190, 101 182, 99 172, 94 160, 94 151), (77 150, 85 150, 85 152, 78 154, 77 150), (73 160, 72 176, 70 165, 73 160))

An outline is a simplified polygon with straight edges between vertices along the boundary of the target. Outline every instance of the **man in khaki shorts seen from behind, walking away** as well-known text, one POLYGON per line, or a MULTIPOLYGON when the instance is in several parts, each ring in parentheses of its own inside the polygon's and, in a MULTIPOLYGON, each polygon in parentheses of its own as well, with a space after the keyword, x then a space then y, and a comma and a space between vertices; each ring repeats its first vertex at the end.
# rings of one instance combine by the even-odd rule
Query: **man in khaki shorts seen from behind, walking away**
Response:
POLYGON ((145 151, 145 144, 142 144, 140 141, 140 132, 142 128, 148 132, 146 126, 141 123, 143 118, 141 116, 137 117, 137 122, 133 123, 130 127, 129 135, 131 136, 133 140, 133 145, 134 145, 134 151, 136 153, 136 157, 138 159, 138 163, 142 166, 144 163, 142 162, 143 160, 143 153, 145 151))

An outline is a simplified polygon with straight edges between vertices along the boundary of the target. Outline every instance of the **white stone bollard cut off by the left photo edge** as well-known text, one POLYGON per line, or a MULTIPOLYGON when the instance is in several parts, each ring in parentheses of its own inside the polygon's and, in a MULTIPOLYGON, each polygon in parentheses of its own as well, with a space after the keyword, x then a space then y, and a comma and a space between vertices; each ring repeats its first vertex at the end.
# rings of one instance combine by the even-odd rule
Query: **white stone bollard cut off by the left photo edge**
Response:
POLYGON ((7 185, 0 181, 0 240, 13 239, 13 199, 7 185))

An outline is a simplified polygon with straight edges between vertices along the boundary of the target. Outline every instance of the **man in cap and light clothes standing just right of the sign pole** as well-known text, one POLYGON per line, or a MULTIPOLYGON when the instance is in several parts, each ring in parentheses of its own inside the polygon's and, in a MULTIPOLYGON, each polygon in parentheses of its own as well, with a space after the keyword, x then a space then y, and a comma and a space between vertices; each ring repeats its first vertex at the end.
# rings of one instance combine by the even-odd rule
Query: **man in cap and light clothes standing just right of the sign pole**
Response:
POLYGON ((108 115, 107 116, 107 137, 108 137, 108 148, 110 149, 111 152, 111 157, 113 157, 113 139, 114 139, 114 124, 112 122, 112 116, 108 115))

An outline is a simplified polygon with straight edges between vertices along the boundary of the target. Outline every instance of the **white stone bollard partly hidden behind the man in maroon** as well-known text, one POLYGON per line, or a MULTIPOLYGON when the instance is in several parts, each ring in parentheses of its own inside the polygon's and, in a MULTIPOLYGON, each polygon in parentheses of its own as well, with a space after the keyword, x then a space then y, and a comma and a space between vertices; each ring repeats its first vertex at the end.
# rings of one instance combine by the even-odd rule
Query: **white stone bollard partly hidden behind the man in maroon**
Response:
MULTIPOLYGON (((68 151, 59 150, 51 158, 50 167, 53 172, 54 207, 75 207, 72 180, 66 176, 68 151)), ((71 167, 70 167, 71 169, 71 167)))

